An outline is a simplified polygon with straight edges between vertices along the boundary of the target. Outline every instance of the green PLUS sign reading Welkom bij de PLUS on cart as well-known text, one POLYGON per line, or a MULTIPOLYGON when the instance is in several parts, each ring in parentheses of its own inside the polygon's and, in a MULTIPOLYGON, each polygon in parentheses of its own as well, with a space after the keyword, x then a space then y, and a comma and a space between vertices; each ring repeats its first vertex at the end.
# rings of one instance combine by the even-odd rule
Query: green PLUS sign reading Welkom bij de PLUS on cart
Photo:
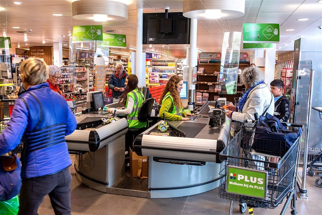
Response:
POLYGON ((226 191, 239 195, 265 199, 267 191, 267 172, 227 166, 226 191))

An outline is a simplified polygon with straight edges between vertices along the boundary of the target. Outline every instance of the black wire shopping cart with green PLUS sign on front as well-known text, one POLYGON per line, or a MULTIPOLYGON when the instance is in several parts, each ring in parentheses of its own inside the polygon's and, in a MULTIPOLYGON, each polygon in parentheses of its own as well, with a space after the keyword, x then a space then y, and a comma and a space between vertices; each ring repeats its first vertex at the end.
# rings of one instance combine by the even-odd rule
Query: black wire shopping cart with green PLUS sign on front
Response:
MULTIPOLYGON (((240 203, 240 212, 243 213, 247 206, 275 208, 287 196, 281 214, 285 213, 291 199, 291 213, 297 214, 294 186, 298 171, 299 140, 302 133, 284 155, 257 153, 252 149, 254 142, 280 146, 285 145, 285 142, 255 138, 257 133, 255 122, 245 121, 241 130, 219 155, 221 160, 219 196, 231 200, 230 214, 232 214, 233 201, 240 203)), ((283 124, 291 126, 288 128, 292 130, 303 127, 298 124, 283 124)), ((275 152, 278 153, 278 151, 275 152)))

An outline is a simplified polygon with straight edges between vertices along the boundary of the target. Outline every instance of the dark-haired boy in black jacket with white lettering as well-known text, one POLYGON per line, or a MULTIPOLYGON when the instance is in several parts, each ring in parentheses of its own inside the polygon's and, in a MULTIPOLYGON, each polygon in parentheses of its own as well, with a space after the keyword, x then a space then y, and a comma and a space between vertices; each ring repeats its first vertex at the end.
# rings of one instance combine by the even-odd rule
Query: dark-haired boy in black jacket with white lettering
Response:
POLYGON ((274 116, 279 118, 280 122, 287 122, 289 119, 289 100, 283 95, 284 83, 280 79, 275 79, 270 83, 270 92, 275 99, 274 116))

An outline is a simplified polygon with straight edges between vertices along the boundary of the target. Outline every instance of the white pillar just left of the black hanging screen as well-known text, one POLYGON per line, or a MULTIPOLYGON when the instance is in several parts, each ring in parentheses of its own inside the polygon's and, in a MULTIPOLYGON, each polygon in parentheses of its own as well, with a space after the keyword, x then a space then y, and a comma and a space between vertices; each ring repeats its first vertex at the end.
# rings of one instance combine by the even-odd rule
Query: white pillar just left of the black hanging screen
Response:
POLYGON ((145 84, 145 67, 142 68, 142 35, 143 31, 143 8, 137 8, 137 52, 136 52, 136 75, 138 78, 138 87, 146 86, 145 84), (144 79, 142 80, 144 73, 144 79))

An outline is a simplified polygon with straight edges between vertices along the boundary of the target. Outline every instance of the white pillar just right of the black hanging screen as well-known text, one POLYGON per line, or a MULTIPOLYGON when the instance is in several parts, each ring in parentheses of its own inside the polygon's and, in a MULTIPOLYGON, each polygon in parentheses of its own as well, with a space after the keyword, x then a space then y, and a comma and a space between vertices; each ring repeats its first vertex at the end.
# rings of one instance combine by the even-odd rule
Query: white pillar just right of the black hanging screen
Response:
POLYGON ((189 89, 189 100, 188 102, 194 102, 195 100, 195 85, 193 82, 194 67, 197 65, 197 19, 191 19, 190 24, 190 50, 189 50, 189 78, 188 78, 188 89, 189 89))

